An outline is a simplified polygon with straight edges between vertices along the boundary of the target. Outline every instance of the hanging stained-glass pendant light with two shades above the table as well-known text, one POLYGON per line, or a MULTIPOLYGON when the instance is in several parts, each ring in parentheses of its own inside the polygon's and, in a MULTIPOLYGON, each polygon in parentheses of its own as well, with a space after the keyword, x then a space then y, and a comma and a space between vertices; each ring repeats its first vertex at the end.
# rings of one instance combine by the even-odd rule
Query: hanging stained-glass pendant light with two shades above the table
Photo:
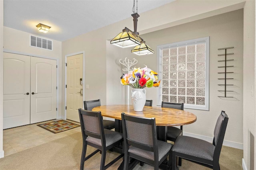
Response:
POLYGON ((120 32, 116 37, 114 37, 110 43, 113 45, 116 45, 121 48, 127 48, 127 47, 134 47, 132 49, 132 53, 136 55, 148 55, 148 54, 154 54, 154 51, 146 45, 145 41, 139 36, 139 33, 137 32, 137 23, 139 14, 138 12, 138 0, 136 0, 136 13, 135 13, 135 0, 133 2, 133 8, 132 8, 132 17, 133 17, 133 25, 134 25, 134 31, 131 31, 127 27, 123 29, 122 32, 120 32))

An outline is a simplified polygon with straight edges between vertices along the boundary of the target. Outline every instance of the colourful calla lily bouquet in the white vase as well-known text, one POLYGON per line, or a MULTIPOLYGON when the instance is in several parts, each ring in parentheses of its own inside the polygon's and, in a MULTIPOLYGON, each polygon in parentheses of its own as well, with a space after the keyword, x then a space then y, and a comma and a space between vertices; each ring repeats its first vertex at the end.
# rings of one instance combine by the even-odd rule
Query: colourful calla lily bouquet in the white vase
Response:
POLYGON ((145 88, 145 87, 158 87, 160 80, 158 81, 158 74, 147 66, 144 68, 134 68, 127 74, 123 74, 121 77, 121 84, 128 85, 132 88, 145 88))

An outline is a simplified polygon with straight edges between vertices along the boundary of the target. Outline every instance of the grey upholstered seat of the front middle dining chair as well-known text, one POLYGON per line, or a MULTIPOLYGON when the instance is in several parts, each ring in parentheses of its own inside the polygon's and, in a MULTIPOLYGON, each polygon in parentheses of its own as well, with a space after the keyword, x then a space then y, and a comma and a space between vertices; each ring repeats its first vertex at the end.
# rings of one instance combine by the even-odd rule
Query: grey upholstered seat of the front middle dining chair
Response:
MULTIPOLYGON (((166 155, 169 150, 172 148, 172 144, 164 142, 164 141, 157 141, 158 143, 158 159, 159 161, 166 155)), ((133 146, 130 146, 128 152, 136 154, 138 156, 142 156, 144 158, 154 160, 154 152, 150 152, 147 150, 139 149, 133 146)))

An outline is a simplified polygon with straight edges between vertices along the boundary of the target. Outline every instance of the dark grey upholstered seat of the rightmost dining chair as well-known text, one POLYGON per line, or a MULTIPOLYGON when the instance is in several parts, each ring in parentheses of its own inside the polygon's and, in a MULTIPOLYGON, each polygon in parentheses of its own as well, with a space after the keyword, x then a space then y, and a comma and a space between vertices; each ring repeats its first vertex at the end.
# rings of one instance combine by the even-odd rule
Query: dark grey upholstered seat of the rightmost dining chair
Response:
POLYGON ((214 149, 215 146, 212 145, 212 143, 188 136, 178 136, 175 145, 172 147, 173 152, 179 152, 210 161, 213 161, 214 149))

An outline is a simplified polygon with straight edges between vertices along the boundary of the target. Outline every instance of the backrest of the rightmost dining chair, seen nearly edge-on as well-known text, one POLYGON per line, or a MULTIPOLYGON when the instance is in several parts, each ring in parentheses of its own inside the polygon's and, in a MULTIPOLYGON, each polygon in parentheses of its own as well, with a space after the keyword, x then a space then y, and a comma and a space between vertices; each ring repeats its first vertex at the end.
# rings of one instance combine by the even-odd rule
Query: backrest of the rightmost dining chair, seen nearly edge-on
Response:
POLYGON ((224 140, 226 128, 228 125, 228 115, 225 113, 225 111, 221 111, 221 114, 219 115, 215 129, 214 129, 214 138, 212 144, 215 146, 214 150, 214 161, 219 161, 220 157, 220 151, 222 148, 222 143, 224 140))

